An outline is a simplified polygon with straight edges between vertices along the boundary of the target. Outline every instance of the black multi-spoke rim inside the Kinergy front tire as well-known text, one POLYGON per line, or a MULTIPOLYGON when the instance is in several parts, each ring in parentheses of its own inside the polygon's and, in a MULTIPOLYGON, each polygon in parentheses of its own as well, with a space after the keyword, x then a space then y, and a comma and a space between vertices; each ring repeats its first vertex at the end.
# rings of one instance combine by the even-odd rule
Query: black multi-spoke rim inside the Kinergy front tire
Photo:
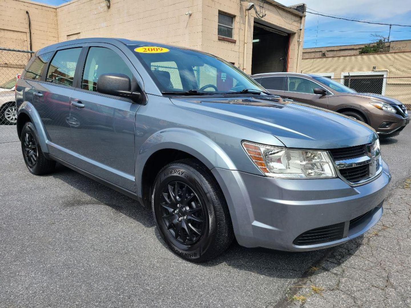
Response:
POLYGON ((204 233, 205 214, 199 197, 185 183, 172 181, 162 190, 162 218, 171 236, 192 245, 204 233))

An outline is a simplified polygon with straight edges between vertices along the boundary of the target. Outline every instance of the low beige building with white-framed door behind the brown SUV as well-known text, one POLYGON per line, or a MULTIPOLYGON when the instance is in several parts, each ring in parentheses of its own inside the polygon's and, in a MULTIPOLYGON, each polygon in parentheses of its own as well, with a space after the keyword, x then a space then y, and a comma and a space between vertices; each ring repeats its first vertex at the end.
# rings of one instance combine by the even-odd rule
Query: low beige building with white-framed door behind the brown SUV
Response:
POLYGON ((391 41, 389 52, 358 54, 361 45, 304 48, 302 73, 335 79, 358 92, 393 97, 411 106, 411 40, 391 41))

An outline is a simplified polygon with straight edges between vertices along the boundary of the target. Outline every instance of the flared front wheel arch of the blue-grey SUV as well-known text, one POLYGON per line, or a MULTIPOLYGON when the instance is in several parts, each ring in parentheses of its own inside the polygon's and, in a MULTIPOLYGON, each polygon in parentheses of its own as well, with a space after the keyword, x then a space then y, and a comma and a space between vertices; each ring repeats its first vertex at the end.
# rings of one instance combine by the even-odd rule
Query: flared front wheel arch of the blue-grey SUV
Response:
POLYGON ((189 129, 164 129, 150 136, 136 155, 136 191, 140 198, 143 195, 142 177, 145 163, 152 154, 162 149, 186 152, 199 159, 210 170, 215 167, 236 170, 226 152, 207 136, 189 129))

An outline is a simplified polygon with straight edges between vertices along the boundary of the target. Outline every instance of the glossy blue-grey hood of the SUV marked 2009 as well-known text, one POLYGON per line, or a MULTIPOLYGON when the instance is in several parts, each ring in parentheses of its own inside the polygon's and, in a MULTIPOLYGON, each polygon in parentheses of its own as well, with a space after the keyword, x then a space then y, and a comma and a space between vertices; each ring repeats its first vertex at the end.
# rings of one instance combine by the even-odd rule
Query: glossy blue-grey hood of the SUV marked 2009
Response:
POLYGON ((172 98, 171 101, 185 109, 270 133, 286 147, 333 149, 363 145, 377 138, 366 124, 279 97, 172 98))

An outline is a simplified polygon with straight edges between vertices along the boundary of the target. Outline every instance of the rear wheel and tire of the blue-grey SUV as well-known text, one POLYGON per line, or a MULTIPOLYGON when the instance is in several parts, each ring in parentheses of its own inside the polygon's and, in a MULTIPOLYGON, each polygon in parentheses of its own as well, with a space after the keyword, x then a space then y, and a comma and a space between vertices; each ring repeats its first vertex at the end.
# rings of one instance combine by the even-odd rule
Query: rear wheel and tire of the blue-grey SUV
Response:
POLYGON ((24 124, 20 140, 25 164, 32 174, 42 175, 53 172, 55 161, 44 156, 39 145, 36 128, 32 122, 24 124))

